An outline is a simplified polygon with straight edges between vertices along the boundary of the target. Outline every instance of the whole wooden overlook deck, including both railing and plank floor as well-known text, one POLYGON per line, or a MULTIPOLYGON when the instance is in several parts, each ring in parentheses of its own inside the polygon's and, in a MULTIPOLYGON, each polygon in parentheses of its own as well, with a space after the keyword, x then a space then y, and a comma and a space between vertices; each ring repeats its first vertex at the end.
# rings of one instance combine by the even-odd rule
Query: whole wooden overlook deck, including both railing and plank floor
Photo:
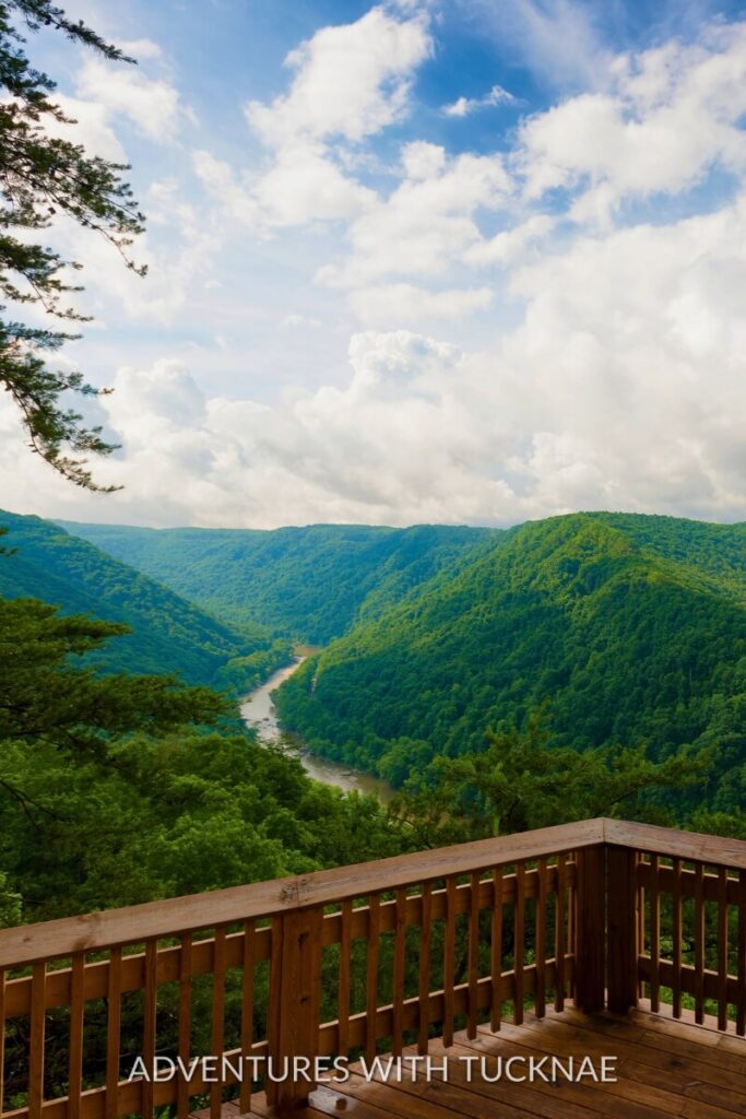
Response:
POLYGON ((310 1101, 270 1080, 270 1102, 312 1119, 746 1117, 746 843, 583 820, 4 929, 3 1019, 0 1119, 202 1119, 208 1100, 209 1119, 267 1115, 236 1062, 360 1053, 310 1101), (405 1061, 369 1080, 377 1049, 427 1053, 433 1076, 405 1061), (133 1053, 144 1074, 122 1079, 133 1053), (225 1061, 153 1081, 157 1055, 225 1061), (510 1057, 570 1056, 617 1057, 618 1079, 504 1075, 510 1057))

